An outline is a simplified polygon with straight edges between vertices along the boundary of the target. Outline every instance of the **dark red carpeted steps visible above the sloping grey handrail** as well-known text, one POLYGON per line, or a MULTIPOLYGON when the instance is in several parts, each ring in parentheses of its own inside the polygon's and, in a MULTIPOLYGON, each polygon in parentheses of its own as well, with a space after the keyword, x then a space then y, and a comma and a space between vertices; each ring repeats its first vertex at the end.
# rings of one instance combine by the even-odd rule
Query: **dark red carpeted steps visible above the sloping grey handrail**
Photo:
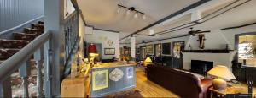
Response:
POLYGON ((0 39, 0 63, 43 33, 44 22, 38 21, 37 24, 31 24, 31 28, 24 28, 23 32, 14 32, 11 39, 0 39))

